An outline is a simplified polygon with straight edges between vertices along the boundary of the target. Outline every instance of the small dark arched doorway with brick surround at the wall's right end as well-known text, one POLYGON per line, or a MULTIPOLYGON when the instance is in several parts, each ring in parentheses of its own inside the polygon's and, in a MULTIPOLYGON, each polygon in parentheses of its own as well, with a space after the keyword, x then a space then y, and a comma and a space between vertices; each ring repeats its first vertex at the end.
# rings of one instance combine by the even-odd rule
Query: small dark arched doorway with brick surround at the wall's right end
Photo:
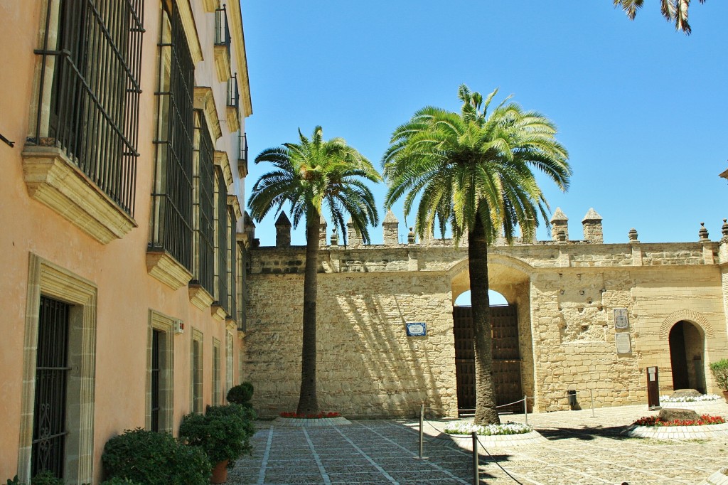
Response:
POLYGON ((668 339, 673 389, 695 389, 705 393, 705 337, 702 329, 687 320, 680 320, 670 328, 668 339))

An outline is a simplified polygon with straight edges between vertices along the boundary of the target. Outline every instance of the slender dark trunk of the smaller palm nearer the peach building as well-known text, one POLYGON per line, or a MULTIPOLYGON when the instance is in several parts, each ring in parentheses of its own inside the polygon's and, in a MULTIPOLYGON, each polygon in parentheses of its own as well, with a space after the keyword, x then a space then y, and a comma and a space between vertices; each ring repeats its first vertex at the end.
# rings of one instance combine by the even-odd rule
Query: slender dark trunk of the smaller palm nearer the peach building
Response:
POLYGON ((319 215, 306 215, 306 270, 304 272, 304 331, 301 346, 301 394, 298 414, 318 414, 316 398, 316 293, 318 285, 319 215))

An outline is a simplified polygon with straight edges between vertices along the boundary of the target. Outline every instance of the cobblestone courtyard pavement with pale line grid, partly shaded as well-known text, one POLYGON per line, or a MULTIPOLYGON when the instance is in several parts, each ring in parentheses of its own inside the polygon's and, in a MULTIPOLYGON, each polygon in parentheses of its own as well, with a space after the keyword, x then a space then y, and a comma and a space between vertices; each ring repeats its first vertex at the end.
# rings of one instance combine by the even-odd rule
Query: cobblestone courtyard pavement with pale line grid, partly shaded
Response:
MULTIPOLYGON (((728 404, 695 408, 728 417, 728 404)), ((657 441, 620 432, 646 406, 529 414, 549 441, 480 449, 480 483, 491 485, 700 484, 728 465, 728 439, 657 441), (513 478, 507 476, 507 470, 513 478)), ((523 414, 502 421, 523 422, 523 414)), ((449 420, 451 421, 451 420, 449 420)), ((419 460, 416 419, 362 420, 333 427, 282 427, 258 422, 255 450, 230 470, 228 484, 472 484, 472 452, 428 419, 419 460)))

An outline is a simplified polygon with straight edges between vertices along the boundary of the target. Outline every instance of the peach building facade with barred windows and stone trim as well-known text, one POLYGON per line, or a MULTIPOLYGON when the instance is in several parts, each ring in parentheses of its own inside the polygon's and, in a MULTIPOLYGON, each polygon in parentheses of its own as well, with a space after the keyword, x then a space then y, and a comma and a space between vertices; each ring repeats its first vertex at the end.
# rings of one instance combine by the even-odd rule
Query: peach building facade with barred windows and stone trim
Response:
POLYGON ((98 483, 240 382, 240 4, 0 5, 0 477, 98 483))

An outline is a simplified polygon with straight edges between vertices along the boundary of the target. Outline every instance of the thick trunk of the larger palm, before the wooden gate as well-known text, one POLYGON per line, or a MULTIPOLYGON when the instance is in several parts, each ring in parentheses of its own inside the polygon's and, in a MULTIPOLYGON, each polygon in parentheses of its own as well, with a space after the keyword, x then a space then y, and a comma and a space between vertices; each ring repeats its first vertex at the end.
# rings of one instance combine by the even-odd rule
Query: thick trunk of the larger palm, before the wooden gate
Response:
POLYGON ((493 336, 488 299, 488 240, 480 218, 467 237, 470 269, 472 328, 475 336, 475 419, 476 425, 500 424, 493 382, 493 336))

